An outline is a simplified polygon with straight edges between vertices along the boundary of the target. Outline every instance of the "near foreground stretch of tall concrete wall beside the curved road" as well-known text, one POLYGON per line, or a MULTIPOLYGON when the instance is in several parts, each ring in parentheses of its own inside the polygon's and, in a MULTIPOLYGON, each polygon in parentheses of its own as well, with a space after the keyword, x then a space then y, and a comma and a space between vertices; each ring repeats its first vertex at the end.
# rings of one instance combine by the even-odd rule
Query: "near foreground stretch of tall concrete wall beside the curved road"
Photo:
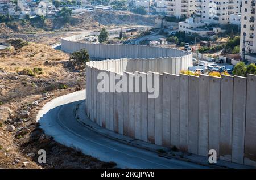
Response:
MULTIPOLYGON (((166 72, 134 74, 132 71, 138 69, 121 73, 122 67, 117 61, 87 63, 86 113, 92 121, 146 142, 176 146, 201 156, 216 149, 221 160, 256 165, 255 75, 214 78, 166 72), (100 72, 106 72, 112 80, 128 75, 128 80, 136 75, 147 80, 158 74, 159 96, 150 99, 147 92, 99 93, 100 72)), ((135 89, 128 83, 127 86, 135 89)), ((142 82, 139 86, 142 87, 142 82)))

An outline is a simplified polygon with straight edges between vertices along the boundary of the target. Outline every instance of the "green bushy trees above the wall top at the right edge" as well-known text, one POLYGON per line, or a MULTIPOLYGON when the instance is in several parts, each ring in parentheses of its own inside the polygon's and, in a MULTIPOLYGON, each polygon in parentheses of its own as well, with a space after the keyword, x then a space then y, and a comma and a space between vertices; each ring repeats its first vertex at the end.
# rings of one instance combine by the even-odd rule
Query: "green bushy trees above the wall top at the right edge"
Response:
POLYGON ((255 64, 245 65, 244 62, 238 62, 232 71, 233 75, 246 77, 247 74, 256 75, 256 66, 255 64))

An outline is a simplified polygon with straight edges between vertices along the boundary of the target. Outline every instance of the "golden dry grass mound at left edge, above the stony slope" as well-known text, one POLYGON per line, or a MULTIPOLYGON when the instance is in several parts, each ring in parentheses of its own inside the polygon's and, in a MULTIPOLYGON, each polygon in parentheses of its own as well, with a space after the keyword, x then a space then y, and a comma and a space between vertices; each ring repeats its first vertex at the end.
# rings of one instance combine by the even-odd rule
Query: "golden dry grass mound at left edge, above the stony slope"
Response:
POLYGON ((42 73, 35 74, 38 77, 59 77, 65 75, 63 61, 67 61, 69 55, 50 46, 29 43, 20 49, 0 52, 0 68, 8 72, 42 69, 42 73), (48 62, 48 63, 47 63, 48 62))

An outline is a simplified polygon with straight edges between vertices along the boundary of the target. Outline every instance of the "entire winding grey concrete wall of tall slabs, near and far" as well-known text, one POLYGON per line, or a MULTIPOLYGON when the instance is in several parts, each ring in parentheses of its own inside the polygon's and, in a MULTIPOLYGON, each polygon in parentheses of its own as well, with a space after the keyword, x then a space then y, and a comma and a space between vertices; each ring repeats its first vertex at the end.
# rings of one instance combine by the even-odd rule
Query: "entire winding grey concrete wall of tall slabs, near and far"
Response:
POLYGON ((108 59, 86 63, 86 114, 93 122, 152 144, 201 156, 214 149, 217 158, 256 166, 256 75, 184 75, 180 70, 192 65, 191 53, 73 41, 82 36, 62 39, 61 48, 69 53, 85 48, 90 57, 108 59), (99 79, 101 72, 109 78, 99 79), (147 87, 148 80, 155 85, 155 76, 159 96, 148 98, 148 92, 136 91, 147 87), (103 79, 109 82, 104 87, 108 91, 99 92, 103 79), (135 79, 140 80, 137 85, 130 83, 135 79), (129 91, 118 92, 110 82, 129 91))

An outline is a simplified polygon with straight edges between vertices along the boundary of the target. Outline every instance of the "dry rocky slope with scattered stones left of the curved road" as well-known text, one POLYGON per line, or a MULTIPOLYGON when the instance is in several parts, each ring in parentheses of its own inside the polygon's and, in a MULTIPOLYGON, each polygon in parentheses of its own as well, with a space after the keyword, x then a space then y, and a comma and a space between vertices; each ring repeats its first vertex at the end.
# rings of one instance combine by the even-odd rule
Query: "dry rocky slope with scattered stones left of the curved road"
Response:
POLYGON ((69 64, 68 54, 49 46, 9 42, 12 48, 0 52, 0 168, 115 166, 55 142, 36 123, 46 102, 85 88, 85 72, 69 64), (47 152, 46 164, 38 162, 40 149, 47 152))

